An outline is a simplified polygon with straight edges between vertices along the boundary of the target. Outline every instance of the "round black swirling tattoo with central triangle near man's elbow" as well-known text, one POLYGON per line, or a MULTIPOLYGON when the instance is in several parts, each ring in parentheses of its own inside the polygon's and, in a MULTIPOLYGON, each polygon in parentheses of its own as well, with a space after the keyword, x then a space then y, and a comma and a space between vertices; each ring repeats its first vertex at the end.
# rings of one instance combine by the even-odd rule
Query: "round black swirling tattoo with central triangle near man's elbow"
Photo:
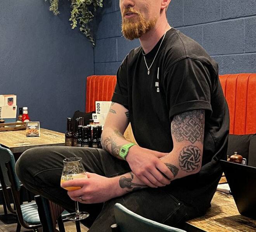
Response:
POLYGON ((193 172, 196 171, 201 164, 201 150, 196 147, 189 145, 183 147, 179 156, 179 165, 183 171, 193 172))

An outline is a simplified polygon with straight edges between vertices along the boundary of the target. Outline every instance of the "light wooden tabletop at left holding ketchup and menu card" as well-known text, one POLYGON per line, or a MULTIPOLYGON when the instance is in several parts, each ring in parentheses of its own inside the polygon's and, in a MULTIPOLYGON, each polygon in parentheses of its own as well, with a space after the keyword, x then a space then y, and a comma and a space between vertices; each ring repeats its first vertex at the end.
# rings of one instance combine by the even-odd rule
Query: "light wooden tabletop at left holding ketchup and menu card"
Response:
POLYGON ((43 128, 40 128, 40 137, 26 137, 25 130, 1 131, 0 144, 17 154, 33 147, 64 146, 65 135, 43 128))

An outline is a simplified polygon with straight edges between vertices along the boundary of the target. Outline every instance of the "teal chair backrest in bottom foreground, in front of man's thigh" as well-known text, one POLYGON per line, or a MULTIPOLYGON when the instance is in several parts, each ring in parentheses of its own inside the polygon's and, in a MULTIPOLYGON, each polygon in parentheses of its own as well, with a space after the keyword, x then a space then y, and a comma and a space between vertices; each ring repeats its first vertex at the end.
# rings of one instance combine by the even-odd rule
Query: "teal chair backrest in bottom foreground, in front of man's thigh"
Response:
POLYGON ((114 214, 116 223, 121 232, 185 232, 185 230, 170 227, 144 218, 131 210, 128 210, 125 206, 119 203, 115 204, 114 214))

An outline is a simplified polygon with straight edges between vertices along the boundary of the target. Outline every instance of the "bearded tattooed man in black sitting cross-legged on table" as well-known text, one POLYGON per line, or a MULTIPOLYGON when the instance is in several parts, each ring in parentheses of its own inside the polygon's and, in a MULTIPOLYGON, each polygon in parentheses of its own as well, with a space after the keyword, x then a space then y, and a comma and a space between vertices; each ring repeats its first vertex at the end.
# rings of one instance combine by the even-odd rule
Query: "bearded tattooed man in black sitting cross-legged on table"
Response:
POLYGON ((111 231, 116 202, 178 226, 210 207, 220 180, 229 118, 218 65, 168 24, 170 1, 120 0, 122 32, 139 38, 141 46, 118 69, 104 149, 41 147, 17 161, 16 172, 29 190, 67 210, 74 210, 74 201, 84 203, 80 210, 90 213, 84 221, 90 232, 111 231), (129 122, 138 145, 123 136, 129 122), (83 158, 88 179, 63 183, 81 186, 66 192, 59 186, 62 160, 74 156, 83 158))

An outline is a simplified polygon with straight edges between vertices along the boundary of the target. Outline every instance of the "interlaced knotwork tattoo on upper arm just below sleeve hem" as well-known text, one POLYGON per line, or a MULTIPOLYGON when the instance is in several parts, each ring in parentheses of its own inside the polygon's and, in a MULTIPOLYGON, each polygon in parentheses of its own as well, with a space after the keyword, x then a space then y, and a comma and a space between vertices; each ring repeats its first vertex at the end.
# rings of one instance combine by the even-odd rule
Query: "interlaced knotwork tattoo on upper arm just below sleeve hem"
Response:
POLYGON ((176 142, 187 140, 192 144, 203 142, 204 110, 192 110, 175 115, 171 122, 171 133, 176 142))

